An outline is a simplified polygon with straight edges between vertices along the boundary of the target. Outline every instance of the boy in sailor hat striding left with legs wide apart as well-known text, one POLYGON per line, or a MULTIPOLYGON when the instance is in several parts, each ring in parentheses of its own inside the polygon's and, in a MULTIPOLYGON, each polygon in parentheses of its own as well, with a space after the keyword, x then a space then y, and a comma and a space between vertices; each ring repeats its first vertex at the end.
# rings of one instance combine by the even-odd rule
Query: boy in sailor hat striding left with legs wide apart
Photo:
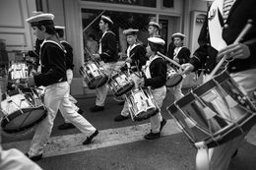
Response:
POLYGON ((26 153, 34 161, 42 157, 43 147, 50 138, 58 109, 82 133, 89 135, 83 144, 92 142, 98 134, 96 128, 73 109, 69 100, 65 51, 55 35, 53 18, 52 14, 39 14, 27 19, 27 22, 32 26, 33 34, 38 39, 44 39, 40 48, 40 74, 28 79, 29 85, 46 87, 44 104, 47 109, 47 116, 38 124, 29 152, 26 153))

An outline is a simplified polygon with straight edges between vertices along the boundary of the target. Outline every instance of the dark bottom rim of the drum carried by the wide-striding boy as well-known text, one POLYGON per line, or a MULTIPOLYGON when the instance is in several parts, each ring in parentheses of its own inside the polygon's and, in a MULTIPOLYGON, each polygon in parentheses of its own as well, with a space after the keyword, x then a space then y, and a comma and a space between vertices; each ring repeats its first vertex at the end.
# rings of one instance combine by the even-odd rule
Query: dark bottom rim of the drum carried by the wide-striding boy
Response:
POLYGON ((18 132, 24 131, 26 129, 32 128, 32 126, 34 126, 37 123, 39 123, 40 121, 42 121, 46 116, 47 116, 47 110, 44 108, 43 105, 40 105, 36 108, 24 108, 24 109, 18 110, 16 112, 13 112, 12 114, 10 114, 8 116, 5 116, 1 122, 1 127, 2 127, 2 130, 5 131, 6 133, 9 133, 9 134, 18 133, 18 132), (34 121, 32 124, 21 127, 19 129, 16 129, 16 130, 6 130, 5 129, 6 125, 8 125, 9 122, 11 122, 15 118, 21 116, 23 114, 23 112, 29 112, 32 110, 43 110, 42 116, 40 118, 38 118, 36 121, 34 121))

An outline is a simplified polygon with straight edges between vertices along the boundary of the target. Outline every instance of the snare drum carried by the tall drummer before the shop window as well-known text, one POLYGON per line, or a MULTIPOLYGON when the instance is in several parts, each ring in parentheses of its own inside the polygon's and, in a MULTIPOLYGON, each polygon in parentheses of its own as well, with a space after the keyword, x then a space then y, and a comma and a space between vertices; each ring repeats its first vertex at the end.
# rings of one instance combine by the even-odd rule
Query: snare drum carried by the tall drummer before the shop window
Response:
POLYGON ((96 89, 108 81, 108 77, 104 74, 104 69, 93 61, 85 63, 84 67, 79 69, 79 73, 91 89, 96 89))

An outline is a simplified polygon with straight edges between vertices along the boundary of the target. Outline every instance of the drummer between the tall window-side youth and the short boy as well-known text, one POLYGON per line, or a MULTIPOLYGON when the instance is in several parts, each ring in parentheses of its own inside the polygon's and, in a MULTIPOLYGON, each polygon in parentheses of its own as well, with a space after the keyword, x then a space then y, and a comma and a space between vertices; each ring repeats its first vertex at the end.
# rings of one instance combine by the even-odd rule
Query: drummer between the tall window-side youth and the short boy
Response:
MULTIPOLYGON (((128 28, 123 31, 126 36, 129 47, 127 49, 126 65, 121 68, 121 71, 132 72, 130 75, 131 80, 135 83, 135 88, 138 87, 137 80, 141 78, 141 68, 148 60, 146 57, 146 49, 143 44, 138 40, 137 33, 139 29, 128 28)), ((121 114, 114 118, 115 122, 128 119, 129 110, 128 103, 125 101, 121 114)))

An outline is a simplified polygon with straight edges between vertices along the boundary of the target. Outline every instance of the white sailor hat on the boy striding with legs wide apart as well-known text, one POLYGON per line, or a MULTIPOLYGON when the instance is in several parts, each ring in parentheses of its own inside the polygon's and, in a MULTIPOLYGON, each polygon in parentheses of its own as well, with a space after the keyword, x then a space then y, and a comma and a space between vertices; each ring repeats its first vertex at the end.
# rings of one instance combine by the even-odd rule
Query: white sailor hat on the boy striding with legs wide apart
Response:
POLYGON ((41 13, 41 12, 33 12, 31 18, 27 19, 26 22, 33 26, 41 26, 41 25, 54 25, 53 19, 54 15, 50 13, 41 13))

